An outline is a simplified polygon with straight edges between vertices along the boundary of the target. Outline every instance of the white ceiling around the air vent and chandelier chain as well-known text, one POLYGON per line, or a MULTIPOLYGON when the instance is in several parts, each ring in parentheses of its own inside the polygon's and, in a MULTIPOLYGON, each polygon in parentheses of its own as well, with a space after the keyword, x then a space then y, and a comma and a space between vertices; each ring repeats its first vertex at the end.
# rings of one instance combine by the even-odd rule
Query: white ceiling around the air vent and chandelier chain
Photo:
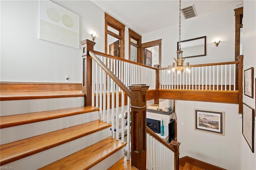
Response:
MULTIPOLYGON (((178 24, 178 0, 91 1, 140 34, 178 24)), ((181 8, 194 4, 197 16, 199 17, 216 12, 216 10, 221 10, 227 6, 240 7, 242 3, 243 0, 182 0, 181 8)))

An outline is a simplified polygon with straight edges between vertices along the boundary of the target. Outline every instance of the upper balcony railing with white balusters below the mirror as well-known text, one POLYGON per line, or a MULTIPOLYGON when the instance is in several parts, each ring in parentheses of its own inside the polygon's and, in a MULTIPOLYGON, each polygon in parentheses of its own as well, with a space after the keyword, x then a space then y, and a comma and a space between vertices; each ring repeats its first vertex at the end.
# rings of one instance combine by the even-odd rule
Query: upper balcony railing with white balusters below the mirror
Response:
POLYGON ((239 61, 192 65, 183 74, 160 68, 160 89, 235 91, 236 64, 239 61))

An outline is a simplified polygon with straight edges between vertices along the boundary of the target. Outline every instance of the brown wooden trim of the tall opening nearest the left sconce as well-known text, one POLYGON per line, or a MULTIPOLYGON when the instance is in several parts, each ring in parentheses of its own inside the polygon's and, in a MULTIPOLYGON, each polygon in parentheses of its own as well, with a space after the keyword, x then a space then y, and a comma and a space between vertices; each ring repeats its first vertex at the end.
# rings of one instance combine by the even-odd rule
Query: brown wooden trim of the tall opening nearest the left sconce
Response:
POLYGON ((122 24, 122 22, 116 20, 115 18, 113 18, 112 16, 110 16, 105 12, 105 53, 106 54, 108 53, 108 34, 109 34, 120 40, 119 54, 120 54, 120 58, 124 58, 124 28, 125 28, 125 25, 122 24), (108 26, 111 26, 112 28, 118 30, 119 35, 108 30, 108 26))

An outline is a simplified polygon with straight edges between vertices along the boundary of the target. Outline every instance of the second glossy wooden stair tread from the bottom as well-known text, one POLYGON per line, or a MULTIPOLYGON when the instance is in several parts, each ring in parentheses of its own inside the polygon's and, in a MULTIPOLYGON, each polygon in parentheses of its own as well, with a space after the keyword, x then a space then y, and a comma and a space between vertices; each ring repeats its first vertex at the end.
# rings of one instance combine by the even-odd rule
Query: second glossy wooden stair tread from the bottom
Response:
POLYGON ((2 144, 0 145, 0 165, 2 166, 60 144, 76 140, 88 134, 109 128, 110 126, 111 124, 95 120, 8 144, 2 144))

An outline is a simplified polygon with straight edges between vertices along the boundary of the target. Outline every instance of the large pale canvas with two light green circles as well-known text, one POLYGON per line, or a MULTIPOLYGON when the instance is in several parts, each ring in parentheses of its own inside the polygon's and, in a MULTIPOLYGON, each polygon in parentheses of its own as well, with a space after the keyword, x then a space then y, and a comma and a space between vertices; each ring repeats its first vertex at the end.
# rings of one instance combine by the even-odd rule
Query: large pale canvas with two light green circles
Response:
POLYGON ((79 16, 49 0, 39 0, 39 38, 79 48, 79 16))

